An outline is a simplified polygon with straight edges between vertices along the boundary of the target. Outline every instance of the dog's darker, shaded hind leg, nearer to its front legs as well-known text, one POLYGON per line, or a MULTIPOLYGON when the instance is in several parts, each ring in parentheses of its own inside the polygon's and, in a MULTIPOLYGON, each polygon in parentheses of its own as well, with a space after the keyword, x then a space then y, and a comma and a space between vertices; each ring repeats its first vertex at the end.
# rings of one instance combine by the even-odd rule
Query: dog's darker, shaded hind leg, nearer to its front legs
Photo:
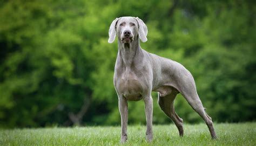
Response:
POLYGON ((178 94, 178 91, 172 91, 171 94, 160 96, 158 93, 158 104, 163 110, 163 112, 172 119, 174 124, 176 124, 179 135, 183 136, 183 120, 176 114, 174 111, 174 99, 176 98, 176 95, 178 94))

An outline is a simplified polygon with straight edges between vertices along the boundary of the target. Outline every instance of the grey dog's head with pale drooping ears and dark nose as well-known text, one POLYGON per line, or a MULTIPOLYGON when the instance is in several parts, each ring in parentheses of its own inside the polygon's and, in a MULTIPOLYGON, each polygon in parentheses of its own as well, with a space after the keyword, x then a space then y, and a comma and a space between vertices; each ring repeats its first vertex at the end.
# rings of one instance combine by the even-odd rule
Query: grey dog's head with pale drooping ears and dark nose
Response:
POLYGON ((122 43, 132 43, 135 37, 147 41, 147 26, 138 17, 120 17, 113 20, 109 29, 109 43, 113 43, 116 34, 122 43))

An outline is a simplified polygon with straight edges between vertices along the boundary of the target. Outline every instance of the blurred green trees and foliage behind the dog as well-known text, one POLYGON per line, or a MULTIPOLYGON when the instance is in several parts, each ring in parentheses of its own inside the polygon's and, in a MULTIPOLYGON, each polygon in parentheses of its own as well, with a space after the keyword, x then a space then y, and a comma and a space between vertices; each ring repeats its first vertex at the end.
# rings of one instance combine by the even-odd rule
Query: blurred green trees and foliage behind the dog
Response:
MULTIPOLYGON (((183 64, 214 122, 255 120, 255 1, 0 0, 0 127, 119 125, 113 19, 148 27, 142 47, 183 64)), ((153 93, 153 123, 172 123, 153 93)), ((203 122, 183 96, 176 112, 203 122)), ((145 124, 129 102, 129 124, 145 124)))

